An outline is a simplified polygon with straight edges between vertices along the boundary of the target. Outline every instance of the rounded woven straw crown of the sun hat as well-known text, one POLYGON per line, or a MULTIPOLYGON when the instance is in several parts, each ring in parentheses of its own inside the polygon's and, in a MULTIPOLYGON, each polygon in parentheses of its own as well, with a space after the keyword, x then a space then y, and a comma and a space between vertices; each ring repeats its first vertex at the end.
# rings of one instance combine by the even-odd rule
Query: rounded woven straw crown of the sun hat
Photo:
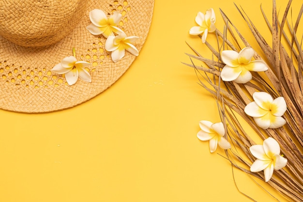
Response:
POLYGON ((88 0, 0 0, 0 35, 25 47, 54 44, 79 23, 88 0))

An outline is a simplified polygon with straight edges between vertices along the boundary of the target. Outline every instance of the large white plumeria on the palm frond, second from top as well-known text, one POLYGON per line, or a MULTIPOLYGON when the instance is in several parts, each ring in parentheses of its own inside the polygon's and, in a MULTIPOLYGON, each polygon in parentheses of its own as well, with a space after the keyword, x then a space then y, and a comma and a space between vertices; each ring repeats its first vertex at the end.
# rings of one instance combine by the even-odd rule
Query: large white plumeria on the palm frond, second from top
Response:
POLYGON ((252 47, 244 47, 239 53, 234 50, 223 50, 221 58, 226 65, 221 71, 222 80, 246 83, 252 79, 249 71, 262 72, 268 70, 264 61, 251 61, 254 54, 255 50, 252 47))

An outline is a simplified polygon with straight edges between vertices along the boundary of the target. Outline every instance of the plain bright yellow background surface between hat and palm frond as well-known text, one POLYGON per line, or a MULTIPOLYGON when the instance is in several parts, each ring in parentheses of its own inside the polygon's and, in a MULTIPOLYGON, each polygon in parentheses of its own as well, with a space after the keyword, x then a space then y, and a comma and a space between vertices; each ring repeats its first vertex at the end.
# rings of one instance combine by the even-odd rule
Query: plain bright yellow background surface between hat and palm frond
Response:
MULTIPOLYGON (((259 5, 270 16, 270 0, 155 0, 143 49, 104 93, 51 113, 0 110, 0 202, 250 202, 217 154, 223 150, 210 154, 197 139, 198 122, 219 122, 219 115, 194 70, 181 63, 192 53, 185 41, 206 50, 188 34, 198 11, 212 7, 222 31, 222 8, 252 37, 233 2, 268 33, 259 5)), ((278 8, 286 3, 278 0, 278 8)), ((248 175, 235 170, 234 177, 256 201, 275 201, 248 175)))

